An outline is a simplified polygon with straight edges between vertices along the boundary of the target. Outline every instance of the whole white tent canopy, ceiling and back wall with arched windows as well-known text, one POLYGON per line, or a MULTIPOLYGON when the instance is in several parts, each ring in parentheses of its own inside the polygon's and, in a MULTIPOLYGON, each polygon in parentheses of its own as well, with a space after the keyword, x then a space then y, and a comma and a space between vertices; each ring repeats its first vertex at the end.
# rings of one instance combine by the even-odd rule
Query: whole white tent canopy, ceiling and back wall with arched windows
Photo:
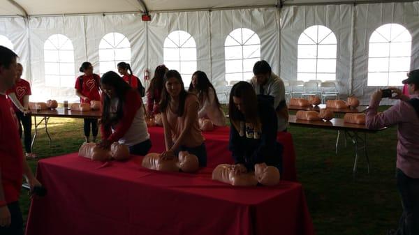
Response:
POLYGON ((19 54, 31 100, 77 100, 73 86, 83 61, 101 74, 128 61, 143 83, 144 70, 161 63, 181 70, 185 82, 192 70, 203 70, 221 90, 250 79, 254 61, 265 59, 288 81, 334 78, 342 94, 362 103, 419 68, 419 1, 2 0, 0 6, 0 43, 19 54), (145 9, 150 22, 141 20, 145 9), (388 31, 397 35, 372 37, 388 31), (383 50, 390 46, 397 50, 383 50), (383 61, 388 66, 380 70, 383 61))

